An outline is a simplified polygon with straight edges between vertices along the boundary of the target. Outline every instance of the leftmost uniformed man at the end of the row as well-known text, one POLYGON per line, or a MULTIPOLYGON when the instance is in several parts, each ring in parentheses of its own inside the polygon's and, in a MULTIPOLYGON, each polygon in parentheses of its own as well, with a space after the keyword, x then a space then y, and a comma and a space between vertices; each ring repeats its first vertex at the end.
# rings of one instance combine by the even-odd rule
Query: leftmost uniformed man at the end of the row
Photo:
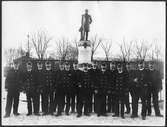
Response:
POLYGON ((4 118, 9 117, 11 113, 11 108, 13 105, 13 114, 19 115, 18 105, 19 105, 19 95, 20 95, 20 85, 21 85, 21 72, 19 70, 19 64, 12 64, 12 68, 7 73, 5 80, 5 89, 7 91, 7 100, 6 100, 6 114, 4 118))

